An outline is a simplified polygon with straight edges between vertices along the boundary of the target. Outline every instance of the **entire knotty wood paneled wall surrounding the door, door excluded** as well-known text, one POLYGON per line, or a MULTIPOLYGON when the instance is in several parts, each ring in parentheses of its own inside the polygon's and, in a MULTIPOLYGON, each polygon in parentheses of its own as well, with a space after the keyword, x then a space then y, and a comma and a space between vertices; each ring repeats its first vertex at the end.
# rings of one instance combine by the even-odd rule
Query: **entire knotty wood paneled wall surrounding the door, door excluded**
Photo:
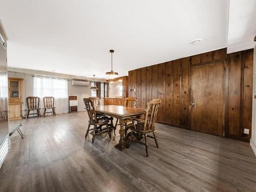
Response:
POLYGON ((129 71, 129 96, 140 108, 160 98, 157 122, 190 129, 191 66, 217 61, 225 62, 225 137, 248 141, 243 129, 251 132, 253 49, 227 55, 224 48, 129 71))

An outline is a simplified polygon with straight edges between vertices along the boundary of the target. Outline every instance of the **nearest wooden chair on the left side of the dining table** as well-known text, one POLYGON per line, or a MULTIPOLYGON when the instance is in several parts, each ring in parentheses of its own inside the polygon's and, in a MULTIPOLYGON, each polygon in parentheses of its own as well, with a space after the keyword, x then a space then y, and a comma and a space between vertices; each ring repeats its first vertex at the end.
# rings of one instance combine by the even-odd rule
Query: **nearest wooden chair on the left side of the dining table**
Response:
POLYGON ((86 105, 86 111, 88 113, 88 117, 89 117, 89 121, 88 121, 88 129, 86 131, 86 138, 88 136, 89 131, 93 131, 93 138, 92 138, 92 143, 94 143, 94 139, 95 139, 95 132, 101 130, 101 127, 103 125, 106 125, 106 129, 108 130, 109 133, 109 137, 111 138, 111 130, 109 127, 109 120, 105 119, 104 117, 98 118, 96 115, 96 111, 95 111, 95 106, 93 103, 93 100, 89 99, 89 98, 83 98, 83 102, 86 105), (93 125, 93 129, 90 129, 90 126, 93 125))

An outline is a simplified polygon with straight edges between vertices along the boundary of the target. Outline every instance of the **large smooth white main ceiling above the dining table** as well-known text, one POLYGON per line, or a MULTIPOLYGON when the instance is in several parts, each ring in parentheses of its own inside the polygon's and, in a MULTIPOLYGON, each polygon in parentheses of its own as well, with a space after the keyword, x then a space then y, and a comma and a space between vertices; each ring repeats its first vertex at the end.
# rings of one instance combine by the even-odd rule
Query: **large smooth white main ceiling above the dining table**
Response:
POLYGON ((114 49, 122 76, 227 47, 227 0, 0 0, 0 7, 9 67, 105 77, 114 49))

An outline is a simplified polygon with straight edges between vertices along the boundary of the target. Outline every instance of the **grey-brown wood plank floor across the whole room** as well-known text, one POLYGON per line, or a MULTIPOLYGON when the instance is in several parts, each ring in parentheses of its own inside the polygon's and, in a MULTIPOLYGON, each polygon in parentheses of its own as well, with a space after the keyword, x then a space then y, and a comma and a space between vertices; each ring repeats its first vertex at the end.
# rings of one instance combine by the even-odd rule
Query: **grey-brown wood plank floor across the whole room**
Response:
MULTIPOLYGON (((121 152, 112 132, 84 135, 86 112, 29 118, 11 137, 1 191, 256 191, 256 157, 246 142, 156 124, 148 139, 121 152)), ((118 127, 119 129, 119 127, 118 127)))

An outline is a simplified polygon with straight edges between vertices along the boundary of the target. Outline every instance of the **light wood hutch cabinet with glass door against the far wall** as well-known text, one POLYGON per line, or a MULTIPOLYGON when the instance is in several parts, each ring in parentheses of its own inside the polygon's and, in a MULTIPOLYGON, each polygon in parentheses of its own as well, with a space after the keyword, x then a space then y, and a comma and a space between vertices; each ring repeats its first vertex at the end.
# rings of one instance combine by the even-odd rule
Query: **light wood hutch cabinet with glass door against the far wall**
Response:
POLYGON ((9 120, 22 119, 22 78, 8 78, 9 120))

